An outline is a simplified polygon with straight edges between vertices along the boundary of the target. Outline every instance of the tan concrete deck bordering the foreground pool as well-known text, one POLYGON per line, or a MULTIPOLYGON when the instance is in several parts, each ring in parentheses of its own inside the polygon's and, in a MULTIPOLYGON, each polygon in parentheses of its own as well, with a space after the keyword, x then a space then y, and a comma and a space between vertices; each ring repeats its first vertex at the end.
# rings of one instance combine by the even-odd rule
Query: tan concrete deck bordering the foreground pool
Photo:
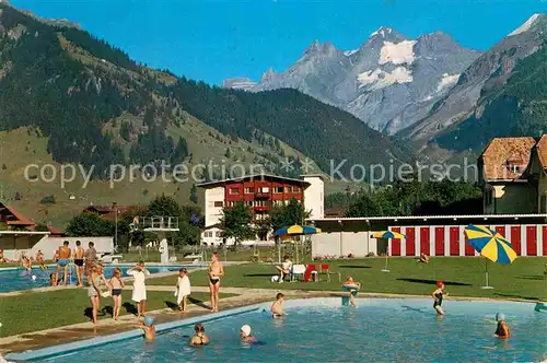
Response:
MULTIPOLYGON (((346 296, 347 293, 341 291, 304 291, 304 290, 290 290, 288 284, 280 285, 279 290, 274 289, 244 289, 244 288, 222 288, 221 293, 236 294, 236 296, 221 298, 220 306, 221 312, 228 309, 249 306, 258 303, 272 302, 275 295, 278 292, 283 293, 289 298, 311 298, 311 297, 340 297, 346 296), (284 289, 283 289, 284 288, 284 289)), ((68 288, 71 289, 71 288, 68 288)), ((130 290, 128 286, 127 290, 130 290)), ((168 285, 149 285, 148 291, 173 291, 173 286, 168 285)), ((49 291, 49 290, 48 290, 49 291)), ((209 288, 206 286, 193 286, 193 292, 209 292, 209 288)), ((383 298, 428 298, 430 296, 424 295, 400 295, 400 294, 385 294, 385 293, 365 293, 360 292, 359 297, 383 297, 383 298)), ((500 301, 487 297, 457 297, 451 296, 453 301, 500 301)), ((508 301, 508 300, 505 300, 508 301)), ((522 300, 513 300, 523 302, 522 300)), ((181 315, 178 312, 174 312, 171 308, 163 308, 153 312, 149 312, 150 315, 154 316, 155 324, 171 323, 171 321, 184 321, 186 319, 196 318, 199 316, 211 316, 208 308, 209 302, 202 302, 196 305, 190 305, 188 313, 181 315)), ((527 303, 531 303, 529 301, 527 303)), ((91 323, 75 324, 65 327, 58 327, 42 331, 34 331, 22 333, 18 336, 11 336, 5 338, 0 338, 0 355, 5 355, 10 352, 23 352, 28 350, 37 350, 51 346, 59 346, 63 343, 74 342, 79 340, 104 337, 108 335, 130 331, 136 329, 136 324, 139 320, 137 317, 120 316, 118 321, 112 318, 102 319, 98 321, 97 326, 94 327, 91 323)))

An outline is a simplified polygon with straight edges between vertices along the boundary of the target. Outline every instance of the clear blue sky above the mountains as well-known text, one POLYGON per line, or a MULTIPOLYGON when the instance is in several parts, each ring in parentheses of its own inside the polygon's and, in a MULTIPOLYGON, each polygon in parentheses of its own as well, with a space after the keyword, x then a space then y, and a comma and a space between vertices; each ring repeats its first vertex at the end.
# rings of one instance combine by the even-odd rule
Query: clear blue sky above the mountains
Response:
POLYGON ((46 17, 79 22, 131 58, 221 83, 282 71, 314 40, 358 48, 381 25, 409 36, 434 31, 487 49, 547 12, 547 0, 11 0, 46 17))

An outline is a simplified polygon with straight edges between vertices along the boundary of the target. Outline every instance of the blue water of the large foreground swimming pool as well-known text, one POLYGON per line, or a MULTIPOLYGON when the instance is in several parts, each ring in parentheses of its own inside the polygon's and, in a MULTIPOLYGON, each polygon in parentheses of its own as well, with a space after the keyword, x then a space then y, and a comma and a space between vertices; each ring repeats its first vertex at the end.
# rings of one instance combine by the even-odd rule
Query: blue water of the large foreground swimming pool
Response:
MULTIPOLYGON (((540 362, 547 358, 547 314, 533 304, 452 302, 438 318, 431 300, 340 298, 289 301, 288 316, 263 312, 206 323, 208 347, 189 348, 193 327, 81 350, 53 362, 540 362), (494 315, 507 316, 511 339, 493 337, 494 315), (242 344, 238 329, 248 324, 260 344, 242 344)), ((268 308, 269 305, 264 305, 268 308)))

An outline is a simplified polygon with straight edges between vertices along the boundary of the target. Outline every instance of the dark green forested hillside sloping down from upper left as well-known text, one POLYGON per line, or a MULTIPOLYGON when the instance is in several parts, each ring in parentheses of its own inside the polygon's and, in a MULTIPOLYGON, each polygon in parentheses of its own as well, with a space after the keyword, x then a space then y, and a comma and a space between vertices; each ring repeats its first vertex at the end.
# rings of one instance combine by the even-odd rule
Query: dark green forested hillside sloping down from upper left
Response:
POLYGON ((57 162, 95 165, 100 177, 110 164, 181 162, 193 150, 167 130, 193 116, 234 140, 270 134, 324 171, 330 159, 411 157, 353 116, 295 91, 247 94, 178 79, 78 28, 0 10, 0 130, 37 127, 57 162))

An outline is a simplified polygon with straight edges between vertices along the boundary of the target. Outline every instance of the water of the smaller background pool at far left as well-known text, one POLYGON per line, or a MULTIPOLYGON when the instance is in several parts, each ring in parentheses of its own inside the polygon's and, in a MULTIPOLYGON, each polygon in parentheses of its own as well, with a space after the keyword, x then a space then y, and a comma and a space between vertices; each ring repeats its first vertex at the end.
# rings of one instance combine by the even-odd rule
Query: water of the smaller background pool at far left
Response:
MULTIPOLYGON (((113 276, 113 271, 116 267, 119 267, 124 273, 124 277, 128 277, 127 270, 132 266, 129 265, 105 265, 104 273, 106 278, 110 278, 113 276)), ((196 268, 196 265, 190 266, 147 266, 147 269, 150 273, 160 273, 160 272, 168 272, 168 271, 178 271, 179 268, 186 267, 187 269, 196 268)), ((49 276, 56 271, 55 267, 49 267, 46 270, 40 270, 38 268, 33 268, 31 271, 26 271, 24 269, 16 270, 0 270, 0 293, 2 292, 11 292, 19 290, 28 290, 36 288, 45 288, 49 286, 49 276), (36 277, 33 280, 33 276, 36 277)), ((60 279, 62 280, 62 269, 60 273, 60 279)), ((70 284, 77 284, 78 278, 75 276, 74 267, 71 266, 69 268, 69 280, 70 284)), ((84 281, 86 281, 84 277, 84 281)))

